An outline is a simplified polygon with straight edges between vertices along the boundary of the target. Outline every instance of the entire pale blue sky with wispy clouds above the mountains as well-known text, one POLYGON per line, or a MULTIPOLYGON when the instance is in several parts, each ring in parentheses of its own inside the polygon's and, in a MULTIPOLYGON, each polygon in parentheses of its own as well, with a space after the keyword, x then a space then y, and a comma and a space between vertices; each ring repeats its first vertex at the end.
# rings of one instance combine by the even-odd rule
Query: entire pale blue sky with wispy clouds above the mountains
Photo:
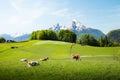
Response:
POLYGON ((120 28, 120 0, 0 0, 0 34, 30 33, 73 19, 104 33, 120 28))

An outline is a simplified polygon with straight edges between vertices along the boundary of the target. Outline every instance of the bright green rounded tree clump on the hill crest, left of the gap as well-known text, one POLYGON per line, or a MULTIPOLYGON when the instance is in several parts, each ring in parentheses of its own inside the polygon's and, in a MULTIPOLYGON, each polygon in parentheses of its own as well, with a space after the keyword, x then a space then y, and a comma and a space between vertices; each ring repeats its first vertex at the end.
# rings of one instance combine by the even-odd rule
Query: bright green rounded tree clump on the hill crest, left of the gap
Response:
POLYGON ((59 40, 65 42, 76 42, 76 34, 69 30, 60 30, 58 34, 53 30, 33 31, 30 40, 59 40))

